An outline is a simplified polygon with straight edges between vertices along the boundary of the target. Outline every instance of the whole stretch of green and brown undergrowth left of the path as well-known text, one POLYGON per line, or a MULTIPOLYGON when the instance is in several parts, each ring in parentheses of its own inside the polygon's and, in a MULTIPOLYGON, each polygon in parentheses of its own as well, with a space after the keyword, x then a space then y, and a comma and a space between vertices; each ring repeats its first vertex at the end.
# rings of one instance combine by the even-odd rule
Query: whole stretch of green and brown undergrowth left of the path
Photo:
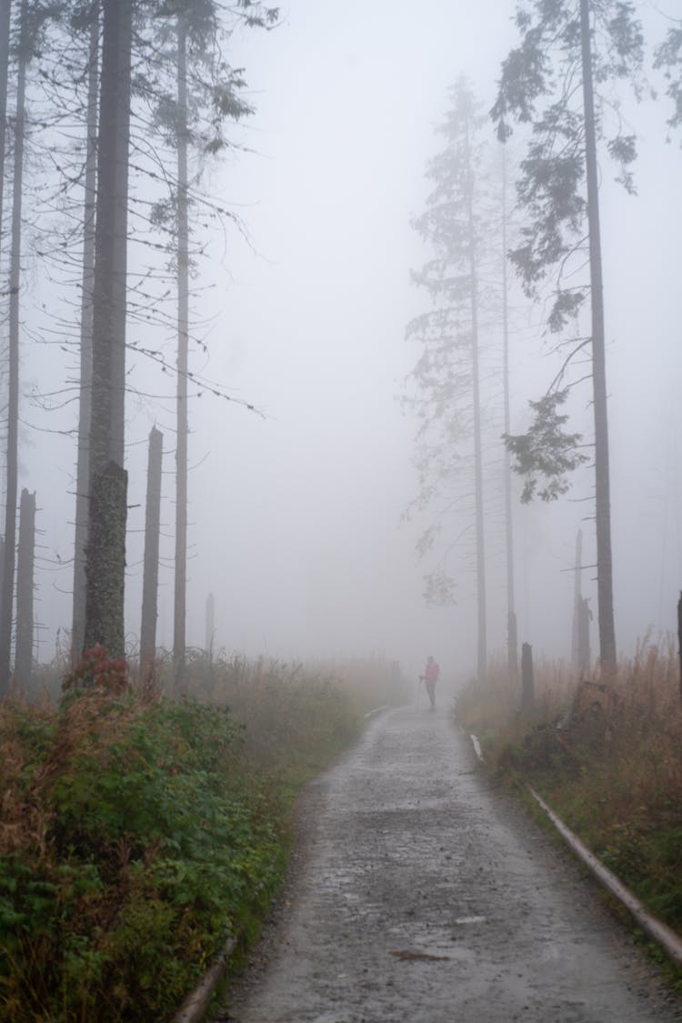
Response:
POLYGON ((0 1019, 169 1019, 257 933, 294 795, 361 715, 302 666, 196 657, 185 691, 97 652, 58 703, 0 704, 0 1019))

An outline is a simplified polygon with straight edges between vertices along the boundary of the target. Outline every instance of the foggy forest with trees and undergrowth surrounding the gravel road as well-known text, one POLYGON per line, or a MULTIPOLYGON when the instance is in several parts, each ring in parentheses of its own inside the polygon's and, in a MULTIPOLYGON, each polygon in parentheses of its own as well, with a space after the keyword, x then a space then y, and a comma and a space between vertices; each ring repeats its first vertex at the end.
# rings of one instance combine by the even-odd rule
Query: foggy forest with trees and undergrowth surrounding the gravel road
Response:
POLYGON ((318 6, 0 0, 3 1019, 171 1018, 430 650, 682 920, 679 11, 318 6))

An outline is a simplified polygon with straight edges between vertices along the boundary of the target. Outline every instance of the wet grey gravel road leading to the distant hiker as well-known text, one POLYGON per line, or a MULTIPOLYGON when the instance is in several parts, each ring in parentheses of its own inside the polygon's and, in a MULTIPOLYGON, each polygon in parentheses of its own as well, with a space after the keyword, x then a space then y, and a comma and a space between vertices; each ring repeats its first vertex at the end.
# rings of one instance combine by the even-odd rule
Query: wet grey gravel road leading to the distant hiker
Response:
POLYGON ((218 1021, 672 1023, 567 852, 445 710, 373 719, 309 787, 292 879, 218 1021))

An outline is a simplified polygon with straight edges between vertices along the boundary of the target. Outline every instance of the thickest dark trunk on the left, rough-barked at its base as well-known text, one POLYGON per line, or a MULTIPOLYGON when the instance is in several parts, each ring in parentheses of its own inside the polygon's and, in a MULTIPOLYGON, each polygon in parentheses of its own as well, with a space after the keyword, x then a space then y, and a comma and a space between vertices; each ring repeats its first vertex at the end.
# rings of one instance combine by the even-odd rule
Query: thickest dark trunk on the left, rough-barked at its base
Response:
POLYGON ((123 656, 126 264, 132 0, 104 0, 92 308, 86 648, 123 656))

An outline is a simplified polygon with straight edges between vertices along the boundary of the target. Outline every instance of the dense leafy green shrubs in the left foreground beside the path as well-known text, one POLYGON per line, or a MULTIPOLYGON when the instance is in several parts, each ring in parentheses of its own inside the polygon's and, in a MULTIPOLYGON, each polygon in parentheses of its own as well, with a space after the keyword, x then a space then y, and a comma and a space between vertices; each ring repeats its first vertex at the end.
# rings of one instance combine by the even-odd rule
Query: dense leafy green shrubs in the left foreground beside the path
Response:
POLYGON ((280 874, 241 729, 93 688, 0 731, 0 1017, 164 1019, 280 874))

